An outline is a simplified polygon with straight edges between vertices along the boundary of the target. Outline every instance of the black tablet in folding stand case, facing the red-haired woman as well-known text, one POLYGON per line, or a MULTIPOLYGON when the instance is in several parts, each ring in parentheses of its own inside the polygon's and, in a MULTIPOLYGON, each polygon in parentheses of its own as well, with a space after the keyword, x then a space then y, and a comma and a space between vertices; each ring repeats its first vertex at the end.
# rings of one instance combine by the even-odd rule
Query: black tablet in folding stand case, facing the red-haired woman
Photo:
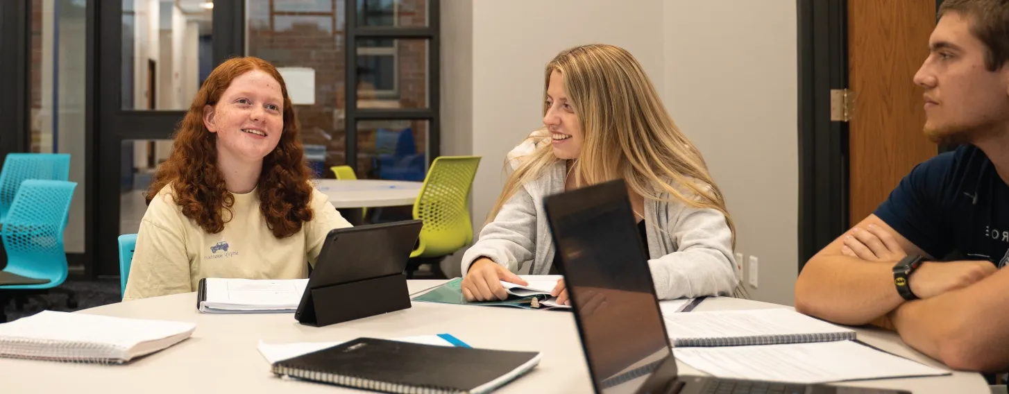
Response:
MULTIPOLYGON (((315 313, 315 301, 311 297, 314 289, 403 275, 422 227, 421 221, 412 220, 331 230, 309 275, 295 318, 302 322, 315 320, 316 316, 312 315, 315 313)), ((404 292, 405 283, 404 279, 404 292)), ((381 292, 373 294, 370 302, 359 299, 357 301, 360 302, 349 302, 341 307, 367 308, 369 304, 381 301, 374 297, 396 295, 395 292, 381 292)), ((402 301, 409 307, 410 296, 404 295, 402 301)), ((358 314, 367 314, 367 311, 362 310, 358 314)))

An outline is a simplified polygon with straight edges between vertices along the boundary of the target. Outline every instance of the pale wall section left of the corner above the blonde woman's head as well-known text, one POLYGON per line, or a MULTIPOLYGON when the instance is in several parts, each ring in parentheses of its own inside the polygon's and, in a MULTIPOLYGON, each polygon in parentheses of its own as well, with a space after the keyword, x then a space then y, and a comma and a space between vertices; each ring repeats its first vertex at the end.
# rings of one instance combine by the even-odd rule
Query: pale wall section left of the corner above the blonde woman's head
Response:
POLYGON ((483 156, 473 183, 474 229, 504 183, 504 155, 543 125, 543 73, 561 50, 586 43, 622 46, 657 86, 663 79, 661 0, 473 2, 473 151, 483 156), (528 26, 520 28, 519 26, 528 26))

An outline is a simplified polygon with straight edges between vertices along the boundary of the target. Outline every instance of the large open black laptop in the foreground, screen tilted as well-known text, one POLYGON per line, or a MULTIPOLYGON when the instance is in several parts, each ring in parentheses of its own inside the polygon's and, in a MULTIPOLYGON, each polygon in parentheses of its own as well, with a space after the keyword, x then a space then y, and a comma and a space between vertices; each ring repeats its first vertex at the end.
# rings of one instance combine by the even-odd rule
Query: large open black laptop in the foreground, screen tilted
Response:
POLYGON ((545 206, 595 392, 910 394, 679 376, 624 180, 550 195, 545 206))

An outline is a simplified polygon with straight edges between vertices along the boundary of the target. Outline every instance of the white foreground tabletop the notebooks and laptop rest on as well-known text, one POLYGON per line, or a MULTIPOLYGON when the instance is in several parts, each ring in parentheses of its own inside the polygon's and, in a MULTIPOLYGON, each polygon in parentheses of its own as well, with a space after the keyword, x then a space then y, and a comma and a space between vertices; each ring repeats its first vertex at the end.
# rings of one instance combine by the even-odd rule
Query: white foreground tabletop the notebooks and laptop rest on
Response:
MULTIPOLYGON (((443 281, 412 280, 411 293, 443 281)), ((359 301, 359 300, 355 300, 359 301)), ((695 310, 780 307, 734 298, 708 299, 695 310)), ((415 302, 384 315, 325 327, 302 325, 292 313, 202 314, 196 293, 121 302, 82 311, 113 316, 197 322, 193 337, 123 366, 61 364, 0 359, 3 393, 337 393, 359 392, 325 384, 284 380, 269 372, 258 342, 349 341, 448 333, 477 348, 539 351, 540 365, 502 387, 501 393, 588 393, 588 369, 573 315, 526 310, 415 302)), ((859 329, 859 339, 895 354, 939 366, 910 350, 893 333, 859 329)), ((703 375, 678 363, 681 374, 703 375)), ((913 393, 989 393, 979 374, 848 382, 846 385, 901 388, 913 393)))

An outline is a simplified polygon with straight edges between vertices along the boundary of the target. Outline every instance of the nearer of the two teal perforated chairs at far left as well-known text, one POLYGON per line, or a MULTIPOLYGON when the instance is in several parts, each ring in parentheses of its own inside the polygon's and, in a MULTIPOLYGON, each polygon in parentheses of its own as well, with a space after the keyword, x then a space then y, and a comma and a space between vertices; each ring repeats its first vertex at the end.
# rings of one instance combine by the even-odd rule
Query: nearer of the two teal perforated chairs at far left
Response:
MULTIPOLYGON (((64 230, 76 182, 27 179, 7 212, 0 238, 7 251, 7 266, 0 271, 0 291, 54 291, 67 294, 67 306, 77 307, 74 293, 55 287, 67 280, 64 230)), ((18 297, 15 295, 15 302, 18 297)), ((21 304, 18 304, 20 307, 21 304)))

